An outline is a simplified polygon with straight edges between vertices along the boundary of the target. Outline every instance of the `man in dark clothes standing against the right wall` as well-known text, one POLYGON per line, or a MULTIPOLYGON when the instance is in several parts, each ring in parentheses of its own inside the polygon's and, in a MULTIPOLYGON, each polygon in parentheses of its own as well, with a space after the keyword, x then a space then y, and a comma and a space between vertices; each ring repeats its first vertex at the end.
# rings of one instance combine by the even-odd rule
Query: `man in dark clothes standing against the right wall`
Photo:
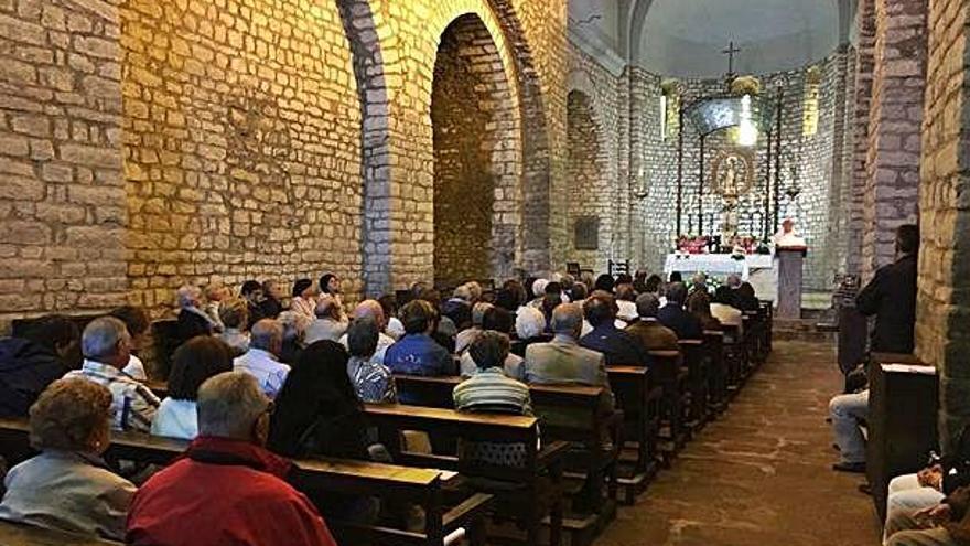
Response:
POLYGON ((919 228, 912 224, 899 226, 896 231, 896 261, 876 271, 855 298, 859 312, 866 317, 875 315, 873 352, 913 352, 918 250, 919 228))

